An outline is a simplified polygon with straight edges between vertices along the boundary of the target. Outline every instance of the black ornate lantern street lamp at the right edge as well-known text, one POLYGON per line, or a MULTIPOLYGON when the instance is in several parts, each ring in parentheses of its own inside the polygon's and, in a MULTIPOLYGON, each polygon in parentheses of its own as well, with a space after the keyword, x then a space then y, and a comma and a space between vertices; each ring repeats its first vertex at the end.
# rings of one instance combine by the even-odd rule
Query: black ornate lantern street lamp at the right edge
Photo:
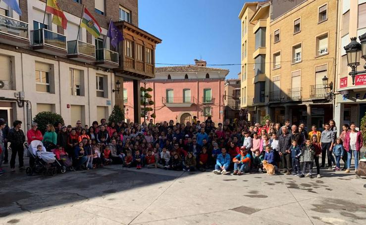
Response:
MULTIPOLYGON (((360 36, 360 40, 361 38, 363 38, 362 42, 363 42, 363 48, 366 48, 366 34, 360 36)), ((346 50, 347 53, 347 66, 351 67, 351 72, 349 73, 349 75, 352 77, 352 84, 355 85, 355 77, 357 74, 361 74, 361 73, 365 73, 366 71, 357 71, 357 67, 360 65, 360 57, 361 57, 361 44, 358 43, 356 41, 356 37, 351 38, 351 43, 344 46, 344 49, 346 50)), ((363 52, 363 58, 365 59, 365 55, 366 55, 366 50, 364 50, 363 52)), ((366 64, 364 66, 364 68, 366 67, 366 64)))

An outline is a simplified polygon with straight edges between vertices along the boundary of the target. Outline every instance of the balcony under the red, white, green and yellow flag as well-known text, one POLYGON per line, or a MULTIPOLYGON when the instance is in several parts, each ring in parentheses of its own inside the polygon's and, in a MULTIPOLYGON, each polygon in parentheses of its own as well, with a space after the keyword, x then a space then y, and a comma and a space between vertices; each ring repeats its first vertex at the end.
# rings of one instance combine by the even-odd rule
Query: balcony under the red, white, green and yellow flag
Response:
POLYGON ((95 62, 95 45, 80 40, 67 42, 67 58, 80 62, 95 62))

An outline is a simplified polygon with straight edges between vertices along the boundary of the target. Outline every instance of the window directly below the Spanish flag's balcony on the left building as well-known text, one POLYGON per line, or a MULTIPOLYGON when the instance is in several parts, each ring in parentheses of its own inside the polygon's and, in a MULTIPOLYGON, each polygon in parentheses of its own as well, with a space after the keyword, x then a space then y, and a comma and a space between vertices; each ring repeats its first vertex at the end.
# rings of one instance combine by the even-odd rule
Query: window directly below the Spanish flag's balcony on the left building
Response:
POLYGON ((51 68, 48 64, 36 62, 36 91, 50 93, 51 68))

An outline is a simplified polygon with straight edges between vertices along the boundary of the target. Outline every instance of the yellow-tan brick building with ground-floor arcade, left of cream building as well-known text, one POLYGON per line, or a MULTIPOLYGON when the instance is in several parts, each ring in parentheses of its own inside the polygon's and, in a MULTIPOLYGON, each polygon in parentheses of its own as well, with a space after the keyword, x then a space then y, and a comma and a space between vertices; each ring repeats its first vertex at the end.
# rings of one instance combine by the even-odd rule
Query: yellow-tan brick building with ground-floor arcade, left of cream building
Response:
POLYGON ((283 11, 280 1, 273 0, 271 7, 266 70, 271 119, 321 127, 333 118, 328 92, 334 89, 337 1, 305 0, 283 11))

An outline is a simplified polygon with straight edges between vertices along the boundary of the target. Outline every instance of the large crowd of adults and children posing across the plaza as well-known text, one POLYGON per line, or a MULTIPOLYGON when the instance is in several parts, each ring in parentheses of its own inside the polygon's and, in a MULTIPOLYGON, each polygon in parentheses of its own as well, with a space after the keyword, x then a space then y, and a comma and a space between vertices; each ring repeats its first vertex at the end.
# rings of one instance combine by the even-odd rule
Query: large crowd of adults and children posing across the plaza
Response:
MULTIPOLYGON (((233 175, 264 172, 262 161, 273 165, 277 173, 285 173, 303 178, 313 178, 315 163, 316 177, 320 178, 320 168, 350 173, 351 159, 354 157, 355 170, 358 167, 362 134, 356 125, 343 125, 337 134, 335 122, 324 124, 323 131, 313 125, 290 125, 286 120, 283 126, 265 120, 265 124, 250 124, 234 119, 218 123, 211 118, 200 122, 194 119, 186 124, 169 122, 148 123, 109 122, 102 119, 94 121, 89 127, 77 121, 75 126, 61 123, 48 124, 46 131, 32 123, 24 134, 21 121, 14 121, 9 129, 0 119, 0 174, 2 163, 8 162, 8 149, 11 151, 10 169, 15 171, 18 155, 19 169, 24 169, 24 143, 42 141, 48 151, 55 154, 56 160, 72 159, 75 170, 90 170, 108 164, 123 167, 160 168, 175 171, 212 171, 214 174, 233 175), (339 136, 339 137, 337 137, 339 136), (8 142, 10 143, 9 148, 8 142), (343 168, 340 160, 343 160, 343 168), (320 162, 319 162, 320 160, 320 162)), ((42 145, 38 146, 42 151, 42 145)), ((30 166, 34 158, 30 157, 30 166)))

